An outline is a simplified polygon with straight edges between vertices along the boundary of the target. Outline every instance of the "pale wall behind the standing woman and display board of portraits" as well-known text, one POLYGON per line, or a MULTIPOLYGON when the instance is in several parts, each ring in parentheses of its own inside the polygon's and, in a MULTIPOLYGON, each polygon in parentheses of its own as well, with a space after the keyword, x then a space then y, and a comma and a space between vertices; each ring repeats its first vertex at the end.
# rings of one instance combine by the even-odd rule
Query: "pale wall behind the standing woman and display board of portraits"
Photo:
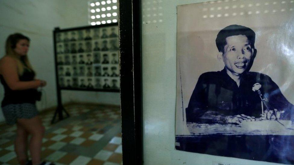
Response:
MULTIPOLYGON (((47 106, 37 103, 39 109, 57 105, 53 29, 88 26, 87 0, 2 0, 0 1, 0 57, 5 54, 5 40, 9 34, 20 32, 31 39, 29 59, 37 78, 47 81, 44 88, 47 106)), ((3 99, 0 86, 0 100, 3 99)), ((62 91, 63 102, 81 101, 119 105, 119 93, 62 91)), ((0 121, 4 121, 0 112, 0 121)))

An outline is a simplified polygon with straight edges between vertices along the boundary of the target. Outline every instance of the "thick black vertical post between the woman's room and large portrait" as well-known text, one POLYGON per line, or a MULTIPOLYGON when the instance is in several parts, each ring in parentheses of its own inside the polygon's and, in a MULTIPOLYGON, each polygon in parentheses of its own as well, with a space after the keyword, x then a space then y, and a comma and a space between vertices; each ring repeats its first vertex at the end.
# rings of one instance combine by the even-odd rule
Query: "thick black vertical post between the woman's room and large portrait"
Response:
POLYGON ((124 164, 143 164, 141 1, 119 1, 120 106, 124 164))

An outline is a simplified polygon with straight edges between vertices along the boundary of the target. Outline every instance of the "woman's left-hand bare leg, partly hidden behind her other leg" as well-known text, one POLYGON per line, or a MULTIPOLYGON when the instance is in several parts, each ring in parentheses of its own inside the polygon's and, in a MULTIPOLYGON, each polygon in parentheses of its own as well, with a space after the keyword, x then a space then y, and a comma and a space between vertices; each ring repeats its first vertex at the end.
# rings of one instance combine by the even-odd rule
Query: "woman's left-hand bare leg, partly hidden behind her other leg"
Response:
POLYGON ((17 160, 20 165, 25 165, 27 163, 27 131, 17 123, 16 139, 14 143, 14 150, 17 155, 17 160))

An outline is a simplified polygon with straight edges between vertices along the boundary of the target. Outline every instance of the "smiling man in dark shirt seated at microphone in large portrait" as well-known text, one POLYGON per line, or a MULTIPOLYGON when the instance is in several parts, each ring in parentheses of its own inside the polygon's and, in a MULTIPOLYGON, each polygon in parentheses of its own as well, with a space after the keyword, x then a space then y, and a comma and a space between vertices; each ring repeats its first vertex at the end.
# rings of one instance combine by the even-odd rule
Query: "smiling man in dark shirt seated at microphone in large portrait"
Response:
POLYGON ((255 32, 230 25, 217 34, 217 58, 224 69, 200 75, 186 108, 186 121, 235 123, 255 120, 292 120, 293 105, 272 79, 249 72, 257 49, 255 32), (264 113, 262 113, 264 112, 264 113))

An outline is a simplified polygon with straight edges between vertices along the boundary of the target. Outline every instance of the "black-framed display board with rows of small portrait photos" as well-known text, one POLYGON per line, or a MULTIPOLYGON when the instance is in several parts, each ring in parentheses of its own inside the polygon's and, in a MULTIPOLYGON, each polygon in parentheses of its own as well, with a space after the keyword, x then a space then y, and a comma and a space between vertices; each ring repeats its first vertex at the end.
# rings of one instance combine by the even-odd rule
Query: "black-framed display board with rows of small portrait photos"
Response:
POLYGON ((118 25, 55 29, 57 86, 119 92, 118 25))

